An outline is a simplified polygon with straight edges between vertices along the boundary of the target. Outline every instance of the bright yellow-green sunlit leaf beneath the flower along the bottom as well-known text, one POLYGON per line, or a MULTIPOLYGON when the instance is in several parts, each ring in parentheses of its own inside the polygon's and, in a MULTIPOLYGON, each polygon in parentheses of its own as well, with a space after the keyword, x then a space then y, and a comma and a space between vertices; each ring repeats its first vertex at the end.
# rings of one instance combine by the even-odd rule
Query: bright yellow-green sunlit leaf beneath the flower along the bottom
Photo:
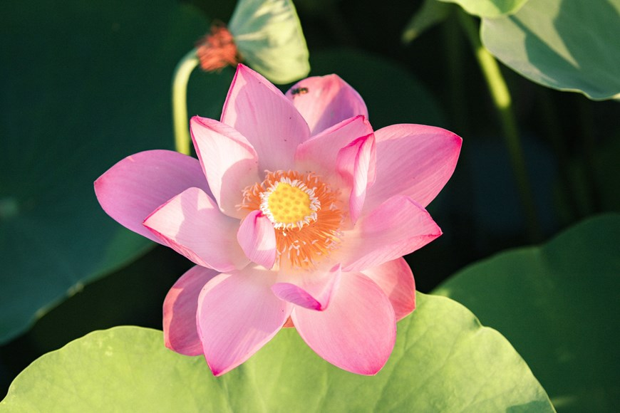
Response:
POLYGON ((33 362, 4 412, 552 412, 510 344, 448 298, 418 295, 376 377, 324 362, 294 329, 215 378, 202 357, 167 350, 138 327, 97 331, 33 362))

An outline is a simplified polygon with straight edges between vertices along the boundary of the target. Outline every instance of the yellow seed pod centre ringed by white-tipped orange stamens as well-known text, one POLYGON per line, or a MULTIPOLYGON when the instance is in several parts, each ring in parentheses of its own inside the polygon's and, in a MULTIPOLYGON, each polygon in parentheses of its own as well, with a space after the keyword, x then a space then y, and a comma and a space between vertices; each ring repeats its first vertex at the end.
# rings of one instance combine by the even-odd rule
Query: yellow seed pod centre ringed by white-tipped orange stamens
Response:
POLYGON ((312 173, 267 172, 244 190, 239 209, 260 209, 272 221, 280 267, 314 268, 342 238, 338 195, 312 173))

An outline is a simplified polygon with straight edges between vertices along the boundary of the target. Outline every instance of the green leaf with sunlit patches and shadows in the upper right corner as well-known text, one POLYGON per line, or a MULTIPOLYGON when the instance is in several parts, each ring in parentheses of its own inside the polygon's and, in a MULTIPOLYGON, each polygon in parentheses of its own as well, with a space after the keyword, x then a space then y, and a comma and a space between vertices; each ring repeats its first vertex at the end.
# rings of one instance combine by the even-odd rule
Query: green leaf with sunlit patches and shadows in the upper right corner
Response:
POLYGON ((620 0, 528 1, 482 19, 482 43, 534 82, 594 100, 620 93, 620 0))

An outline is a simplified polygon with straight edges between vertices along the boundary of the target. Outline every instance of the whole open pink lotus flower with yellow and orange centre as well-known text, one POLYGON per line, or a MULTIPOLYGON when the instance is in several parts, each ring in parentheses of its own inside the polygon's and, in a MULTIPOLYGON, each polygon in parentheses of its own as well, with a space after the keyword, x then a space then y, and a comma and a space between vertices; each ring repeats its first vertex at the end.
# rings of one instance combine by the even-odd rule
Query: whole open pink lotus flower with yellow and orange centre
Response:
POLYGON ((366 117, 336 75, 283 95, 239 65, 221 120, 192 118, 199 160, 140 152, 97 179, 113 219, 197 264, 165 299, 167 347, 222 375, 294 325, 328 362, 381 370, 415 308, 402 256, 440 236, 424 207, 461 139, 366 117))

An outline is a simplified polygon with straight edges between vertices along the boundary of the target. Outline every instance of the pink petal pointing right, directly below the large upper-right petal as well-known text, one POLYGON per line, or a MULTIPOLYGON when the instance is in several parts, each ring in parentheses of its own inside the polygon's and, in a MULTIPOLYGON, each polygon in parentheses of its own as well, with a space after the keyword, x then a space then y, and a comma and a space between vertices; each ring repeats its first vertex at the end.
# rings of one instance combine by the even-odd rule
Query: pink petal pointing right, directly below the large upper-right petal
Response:
POLYGON ((343 271, 379 266, 422 248, 441 235, 430 214, 412 199, 388 199, 343 237, 336 260, 343 271))

